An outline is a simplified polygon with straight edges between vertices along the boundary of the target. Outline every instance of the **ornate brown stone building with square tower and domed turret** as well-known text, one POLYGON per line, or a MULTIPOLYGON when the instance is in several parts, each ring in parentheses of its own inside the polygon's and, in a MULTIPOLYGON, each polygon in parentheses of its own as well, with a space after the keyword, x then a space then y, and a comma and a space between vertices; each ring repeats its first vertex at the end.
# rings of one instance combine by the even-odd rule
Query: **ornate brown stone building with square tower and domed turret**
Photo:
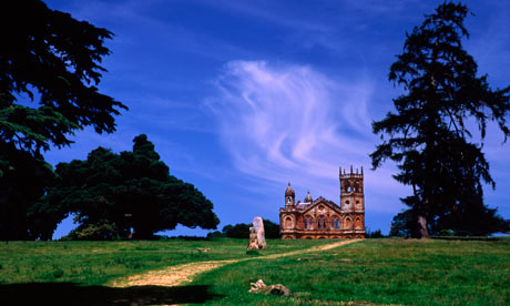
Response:
POLYGON ((365 194, 363 167, 341 173, 340 205, 322 196, 295 202, 296 195, 290 182, 285 191, 285 207, 279 208, 279 233, 283 239, 364 238, 365 194))

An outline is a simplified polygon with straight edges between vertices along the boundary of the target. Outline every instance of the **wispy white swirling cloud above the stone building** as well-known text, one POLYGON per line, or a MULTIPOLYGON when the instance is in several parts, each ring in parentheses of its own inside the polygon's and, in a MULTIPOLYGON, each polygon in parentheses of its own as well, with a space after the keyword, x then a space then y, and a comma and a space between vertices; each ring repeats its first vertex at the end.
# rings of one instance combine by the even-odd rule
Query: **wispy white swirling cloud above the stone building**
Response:
POLYGON ((279 185, 290 180, 335 200, 338 166, 354 164, 365 166, 374 194, 400 188, 388 171, 376 178, 367 170, 375 143, 369 80, 339 82, 306 65, 233 61, 216 86, 220 94, 207 105, 234 166, 246 175, 279 185))

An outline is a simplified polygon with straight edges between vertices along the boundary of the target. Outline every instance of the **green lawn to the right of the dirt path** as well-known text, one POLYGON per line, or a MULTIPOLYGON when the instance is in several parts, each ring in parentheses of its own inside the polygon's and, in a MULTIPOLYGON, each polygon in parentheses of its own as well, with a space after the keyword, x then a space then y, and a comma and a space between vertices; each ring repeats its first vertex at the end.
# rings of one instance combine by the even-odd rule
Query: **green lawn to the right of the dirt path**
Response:
POLYGON ((510 305, 510 239, 366 239, 322 253, 251 261, 203 274, 211 305, 510 305), (298 261, 298 258, 302 261, 298 261), (284 284, 292 296, 248 294, 284 284))

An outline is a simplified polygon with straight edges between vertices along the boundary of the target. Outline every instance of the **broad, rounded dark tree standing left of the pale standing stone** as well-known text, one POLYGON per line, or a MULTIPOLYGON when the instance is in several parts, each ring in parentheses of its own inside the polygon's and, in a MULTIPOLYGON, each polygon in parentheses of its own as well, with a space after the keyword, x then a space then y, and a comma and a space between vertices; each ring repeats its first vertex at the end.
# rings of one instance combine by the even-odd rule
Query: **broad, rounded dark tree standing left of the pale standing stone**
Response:
POLYGON ((142 134, 133 140, 133 151, 115 154, 98 147, 86 161, 57 165, 60 182, 47 201, 76 215, 76 237, 152 238, 159 231, 177 224, 216 228, 220 223, 213 203, 192 184, 169 174, 154 144, 142 134), (103 226, 108 225, 108 226, 103 226), (112 226, 114 225, 114 226, 112 226), (105 230, 115 228, 111 234, 105 230))

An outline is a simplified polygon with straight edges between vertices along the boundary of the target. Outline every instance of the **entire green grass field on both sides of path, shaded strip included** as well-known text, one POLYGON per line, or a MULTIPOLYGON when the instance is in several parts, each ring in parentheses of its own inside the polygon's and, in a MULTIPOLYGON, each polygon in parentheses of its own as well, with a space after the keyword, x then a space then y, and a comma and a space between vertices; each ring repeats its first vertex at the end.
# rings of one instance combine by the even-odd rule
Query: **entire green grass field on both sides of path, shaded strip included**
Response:
POLYGON ((269 249, 261 256, 171 288, 106 285, 149 269, 246 258, 247 242, 2 243, 0 304, 510 305, 509 238, 365 239, 329 251, 264 258, 327 243, 332 241, 269 241, 269 249), (211 247, 211 252, 201 254, 197 247, 211 247), (290 296, 248 294, 249 283, 259 278, 284 284, 290 296))

